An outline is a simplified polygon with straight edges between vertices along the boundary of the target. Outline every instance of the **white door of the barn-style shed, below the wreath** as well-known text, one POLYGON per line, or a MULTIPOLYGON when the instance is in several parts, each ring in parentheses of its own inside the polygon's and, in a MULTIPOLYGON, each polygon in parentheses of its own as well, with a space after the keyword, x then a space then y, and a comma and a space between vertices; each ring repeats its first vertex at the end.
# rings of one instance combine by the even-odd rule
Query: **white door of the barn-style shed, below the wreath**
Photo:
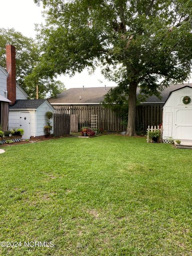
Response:
POLYGON ((192 140, 192 109, 176 108, 174 117, 174 139, 192 140))

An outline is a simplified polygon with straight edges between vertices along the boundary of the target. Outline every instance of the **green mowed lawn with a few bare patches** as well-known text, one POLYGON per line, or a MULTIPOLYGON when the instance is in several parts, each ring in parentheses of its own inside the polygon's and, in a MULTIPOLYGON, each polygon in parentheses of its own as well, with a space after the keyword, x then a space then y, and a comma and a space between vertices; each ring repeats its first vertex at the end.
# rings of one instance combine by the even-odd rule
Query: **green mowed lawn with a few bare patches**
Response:
POLYGON ((119 135, 4 149, 0 241, 22 246, 0 255, 192 255, 192 150, 119 135))

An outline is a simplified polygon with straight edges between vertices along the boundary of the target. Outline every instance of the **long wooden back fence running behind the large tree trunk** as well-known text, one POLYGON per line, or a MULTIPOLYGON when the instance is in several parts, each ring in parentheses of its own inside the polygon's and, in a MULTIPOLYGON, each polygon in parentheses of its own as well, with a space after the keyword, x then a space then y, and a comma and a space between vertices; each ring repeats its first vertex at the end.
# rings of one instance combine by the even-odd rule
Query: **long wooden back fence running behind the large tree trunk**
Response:
MULTIPOLYGON (((109 131, 126 131, 123 117, 108 108, 99 106, 58 106, 56 114, 75 114, 78 116, 78 129, 90 126, 91 115, 98 116, 97 127, 109 131)), ((162 104, 139 105, 136 109, 136 130, 147 130, 148 125, 162 123, 162 104)))

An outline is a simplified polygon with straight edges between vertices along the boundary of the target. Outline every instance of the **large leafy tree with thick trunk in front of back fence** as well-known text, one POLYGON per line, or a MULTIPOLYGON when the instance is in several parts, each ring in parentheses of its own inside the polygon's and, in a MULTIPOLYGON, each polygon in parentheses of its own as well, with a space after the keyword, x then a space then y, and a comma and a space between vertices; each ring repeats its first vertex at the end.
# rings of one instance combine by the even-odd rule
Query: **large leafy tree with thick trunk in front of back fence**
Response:
POLYGON ((136 90, 159 94, 190 75, 191 0, 34 0, 43 2, 42 67, 75 74, 102 66, 117 88, 106 97, 128 95, 127 134, 135 134, 136 90))

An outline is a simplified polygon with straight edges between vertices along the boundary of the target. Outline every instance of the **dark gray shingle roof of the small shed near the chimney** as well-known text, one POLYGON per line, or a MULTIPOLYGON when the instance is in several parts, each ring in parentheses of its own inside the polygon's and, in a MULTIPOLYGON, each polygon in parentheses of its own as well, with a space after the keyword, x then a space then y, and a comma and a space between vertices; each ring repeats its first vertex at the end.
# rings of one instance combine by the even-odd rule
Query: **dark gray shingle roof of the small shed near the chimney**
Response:
POLYGON ((24 109, 24 108, 38 108, 45 100, 16 100, 16 103, 13 106, 10 106, 10 109, 24 109))

